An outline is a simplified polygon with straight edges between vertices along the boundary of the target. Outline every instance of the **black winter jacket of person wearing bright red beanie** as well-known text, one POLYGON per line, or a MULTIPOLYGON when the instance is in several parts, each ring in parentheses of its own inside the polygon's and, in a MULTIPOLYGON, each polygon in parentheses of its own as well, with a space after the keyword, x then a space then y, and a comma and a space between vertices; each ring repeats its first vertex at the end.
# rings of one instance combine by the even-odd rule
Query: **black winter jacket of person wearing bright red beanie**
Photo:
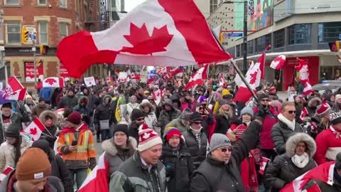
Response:
POLYGON ((180 141, 178 151, 173 151, 167 143, 164 144, 160 161, 166 167, 166 187, 168 192, 189 192, 194 166, 193 159, 183 139, 180 141))

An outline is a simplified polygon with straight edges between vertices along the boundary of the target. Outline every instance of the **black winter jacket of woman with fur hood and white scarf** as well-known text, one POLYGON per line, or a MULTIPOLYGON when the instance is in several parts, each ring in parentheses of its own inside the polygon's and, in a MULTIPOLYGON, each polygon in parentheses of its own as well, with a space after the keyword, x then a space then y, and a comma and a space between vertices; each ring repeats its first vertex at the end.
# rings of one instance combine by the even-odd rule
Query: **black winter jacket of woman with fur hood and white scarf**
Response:
POLYGON ((276 156, 274 161, 268 164, 265 174, 266 182, 264 183, 272 187, 272 191, 280 191, 287 183, 315 168, 315 166, 317 166, 316 162, 310 158, 308 164, 303 169, 298 168, 291 161, 291 157, 287 154, 282 154, 276 156))

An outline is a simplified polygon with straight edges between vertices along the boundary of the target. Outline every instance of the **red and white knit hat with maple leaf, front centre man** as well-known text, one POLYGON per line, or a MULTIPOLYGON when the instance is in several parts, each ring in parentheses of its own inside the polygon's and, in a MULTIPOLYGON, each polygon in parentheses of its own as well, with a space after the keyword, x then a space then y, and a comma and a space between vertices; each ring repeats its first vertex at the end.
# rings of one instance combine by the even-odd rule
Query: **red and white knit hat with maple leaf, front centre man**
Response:
POLYGON ((157 132, 153 129, 145 129, 141 127, 139 130, 139 145, 137 146, 138 151, 145 151, 157 144, 162 144, 162 139, 157 132))

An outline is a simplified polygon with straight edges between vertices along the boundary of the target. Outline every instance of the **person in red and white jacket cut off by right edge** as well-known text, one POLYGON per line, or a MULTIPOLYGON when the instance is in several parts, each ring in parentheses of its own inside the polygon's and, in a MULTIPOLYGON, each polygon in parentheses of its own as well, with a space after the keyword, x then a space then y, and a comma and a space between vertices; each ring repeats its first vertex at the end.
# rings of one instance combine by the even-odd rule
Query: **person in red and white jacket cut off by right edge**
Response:
POLYGON ((335 161, 336 155, 341 152, 341 112, 331 113, 329 119, 330 127, 316 137, 315 161, 319 165, 335 161))

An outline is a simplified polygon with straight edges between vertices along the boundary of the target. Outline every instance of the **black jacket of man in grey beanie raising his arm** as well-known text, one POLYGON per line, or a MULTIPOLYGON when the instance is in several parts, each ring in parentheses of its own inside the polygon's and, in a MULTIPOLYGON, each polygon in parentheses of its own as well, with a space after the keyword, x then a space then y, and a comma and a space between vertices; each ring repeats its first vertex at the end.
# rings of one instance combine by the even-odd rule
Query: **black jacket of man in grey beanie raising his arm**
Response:
POLYGON ((192 192, 216 192, 216 191, 244 191, 242 177, 240 176, 240 164, 249 155, 251 149, 256 148, 261 124, 251 122, 239 142, 232 148, 231 158, 227 164, 213 159, 211 154, 202 162, 194 172, 190 183, 192 192))

